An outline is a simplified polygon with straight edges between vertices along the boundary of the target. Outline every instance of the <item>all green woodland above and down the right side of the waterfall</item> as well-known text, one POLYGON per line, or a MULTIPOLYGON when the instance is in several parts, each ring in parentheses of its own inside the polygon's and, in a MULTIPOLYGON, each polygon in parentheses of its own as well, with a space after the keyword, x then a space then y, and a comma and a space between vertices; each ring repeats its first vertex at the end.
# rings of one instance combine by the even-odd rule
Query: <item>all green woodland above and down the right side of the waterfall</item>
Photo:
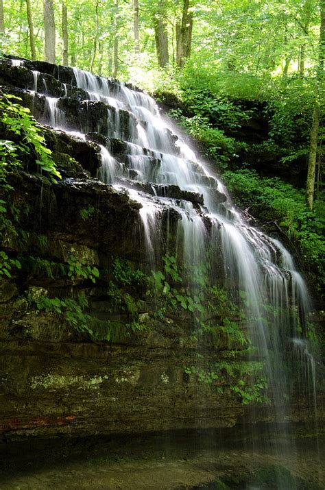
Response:
MULTIPOLYGON (((287 205, 276 212, 291 238, 302 234, 306 245, 320 235, 325 0, 0 0, 0 36, 3 53, 77 66, 173 99, 171 116, 226 171, 245 205, 241 179, 229 172, 269 154, 279 173, 267 177, 300 167, 304 182, 293 184, 304 187, 309 210, 300 192, 290 217, 287 205), (267 134, 252 142, 240 130, 256 110, 267 134)), ((315 263, 322 245, 314 245, 315 263)))

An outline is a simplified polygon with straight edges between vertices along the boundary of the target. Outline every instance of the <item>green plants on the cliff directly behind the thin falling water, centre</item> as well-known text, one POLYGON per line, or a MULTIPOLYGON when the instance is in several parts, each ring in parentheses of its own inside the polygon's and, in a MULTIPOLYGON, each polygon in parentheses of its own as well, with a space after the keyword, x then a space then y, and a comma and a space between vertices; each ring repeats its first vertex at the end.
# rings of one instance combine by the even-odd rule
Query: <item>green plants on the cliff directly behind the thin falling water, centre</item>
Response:
POLYGON ((232 302, 230 295, 218 284, 210 284, 209 267, 178 266, 173 256, 163 256, 163 271, 152 271, 147 295, 154 298, 156 317, 189 315, 193 323, 191 339, 195 343, 212 338, 218 344, 225 342, 228 348, 245 345, 248 338, 240 328, 245 315, 232 302), (200 284, 200 289, 194 285, 200 284), (206 318, 208 315, 209 319, 206 318))

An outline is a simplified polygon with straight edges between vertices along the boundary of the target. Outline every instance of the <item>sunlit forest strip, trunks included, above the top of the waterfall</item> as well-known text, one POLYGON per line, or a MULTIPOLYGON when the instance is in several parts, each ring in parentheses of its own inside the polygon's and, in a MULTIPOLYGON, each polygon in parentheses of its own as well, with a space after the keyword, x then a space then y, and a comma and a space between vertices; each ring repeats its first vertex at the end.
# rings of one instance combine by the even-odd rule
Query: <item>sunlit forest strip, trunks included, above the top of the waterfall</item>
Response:
POLYGON ((254 76, 313 75, 317 65, 319 0, 2 3, 3 51, 43 59, 55 26, 49 61, 128 81, 189 58, 193 69, 254 76))

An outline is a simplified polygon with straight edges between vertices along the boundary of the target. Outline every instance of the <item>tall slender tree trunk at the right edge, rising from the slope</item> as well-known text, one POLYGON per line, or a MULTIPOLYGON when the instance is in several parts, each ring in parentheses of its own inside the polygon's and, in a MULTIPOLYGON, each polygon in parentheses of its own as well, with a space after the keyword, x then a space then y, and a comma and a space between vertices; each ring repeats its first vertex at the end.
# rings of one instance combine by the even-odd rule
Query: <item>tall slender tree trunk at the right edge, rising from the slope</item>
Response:
POLYGON ((317 91, 313 108, 313 122, 311 124, 311 140, 309 147, 308 174, 306 186, 306 200, 309 209, 313 209, 315 191, 315 172, 317 162, 317 141, 320 130, 321 97, 324 96, 324 59, 325 59, 325 0, 320 0, 320 42, 317 66, 317 91))

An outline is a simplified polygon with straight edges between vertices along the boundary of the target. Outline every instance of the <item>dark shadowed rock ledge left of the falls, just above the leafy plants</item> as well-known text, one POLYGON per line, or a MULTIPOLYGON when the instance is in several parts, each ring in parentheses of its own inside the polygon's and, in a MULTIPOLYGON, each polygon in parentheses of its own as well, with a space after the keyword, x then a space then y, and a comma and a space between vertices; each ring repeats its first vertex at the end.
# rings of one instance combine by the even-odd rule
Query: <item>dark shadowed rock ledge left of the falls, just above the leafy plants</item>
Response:
POLYGON ((131 201, 125 193, 117 193, 97 180, 67 179, 49 184, 23 173, 10 175, 10 183, 23 196, 19 205, 29 209, 23 223, 29 233, 35 231, 51 239, 91 248, 101 243, 103 250, 110 250, 110 254, 115 248, 121 250, 122 256, 133 253, 132 230, 139 219, 141 205, 131 201), (85 221, 80 210, 90 205, 97 219, 85 221), (101 215, 105 219, 99 219, 101 215))

